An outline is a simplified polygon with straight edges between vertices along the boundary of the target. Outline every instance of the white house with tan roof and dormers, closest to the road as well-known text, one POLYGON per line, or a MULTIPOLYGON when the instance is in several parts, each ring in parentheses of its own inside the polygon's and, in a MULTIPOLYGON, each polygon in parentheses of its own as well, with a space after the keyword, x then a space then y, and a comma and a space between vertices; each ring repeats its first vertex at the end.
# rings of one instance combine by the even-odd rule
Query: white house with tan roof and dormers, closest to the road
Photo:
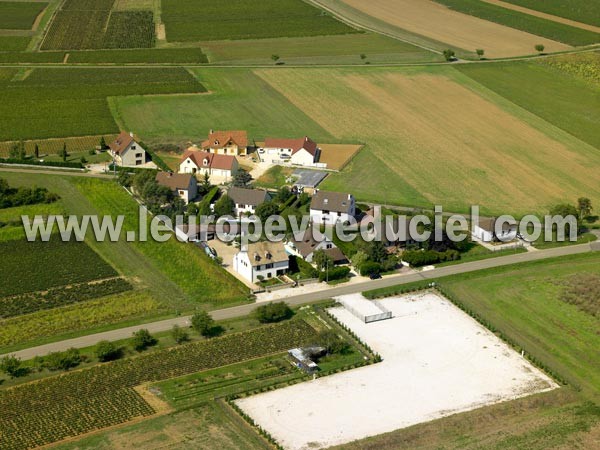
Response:
POLYGON ((256 242, 233 257, 233 269, 252 283, 287 273, 290 258, 282 242, 256 242))

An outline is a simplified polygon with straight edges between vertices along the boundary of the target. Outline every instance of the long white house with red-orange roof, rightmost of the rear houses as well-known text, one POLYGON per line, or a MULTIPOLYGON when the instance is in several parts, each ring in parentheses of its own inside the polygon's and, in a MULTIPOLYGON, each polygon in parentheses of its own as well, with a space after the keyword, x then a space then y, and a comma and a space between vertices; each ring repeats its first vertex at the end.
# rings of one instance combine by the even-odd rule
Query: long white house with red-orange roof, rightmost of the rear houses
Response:
POLYGON ((261 160, 272 164, 314 166, 319 162, 320 150, 308 136, 298 139, 267 138, 259 154, 261 160))

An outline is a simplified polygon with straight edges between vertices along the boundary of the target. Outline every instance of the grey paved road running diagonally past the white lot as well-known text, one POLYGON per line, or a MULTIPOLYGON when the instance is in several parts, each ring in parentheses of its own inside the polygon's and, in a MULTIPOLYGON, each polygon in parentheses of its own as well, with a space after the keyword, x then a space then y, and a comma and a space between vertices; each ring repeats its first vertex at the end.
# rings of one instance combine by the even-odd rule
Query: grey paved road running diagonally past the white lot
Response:
MULTIPOLYGON (((577 255, 583 253, 589 253, 591 251, 600 251, 600 242, 592 242, 589 244, 572 245, 566 247, 553 248, 548 250, 540 250, 537 252, 530 253, 518 253, 515 255, 501 256, 498 258, 485 259, 482 261, 474 261, 470 263, 457 264, 453 266, 442 267, 426 272, 403 274, 403 275, 391 275, 381 280, 366 281, 363 283, 348 284, 346 286, 338 286, 325 291, 312 292, 302 295, 293 295, 282 299, 290 306, 299 306, 308 303, 318 302, 331 297, 354 294, 357 292, 364 292, 371 289, 378 289, 383 287, 390 287, 396 285, 402 285, 412 283, 415 281, 422 280, 435 280, 440 277, 448 275, 457 275, 466 272, 473 272, 477 270, 489 269, 494 267, 502 267, 511 264, 518 264, 523 262, 538 261, 542 259, 555 258, 561 256, 577 255)), ((278 300, 278 301, 282 301, 278 300)), ((235 317, 246 316, 250 314, 254 309, 260 305, 271 302, 253 303, 249 305, 235 306, 232 308, 218 309, 211 311, 211 315, 215 320, 232 319, 235 317)), ((54 342, 50 344, 40 345, 38 347, 31 347, 28 349, 20 350, 12 353, 13 355, 26 360, 31 359, 35 356, 44 356, 50 352, 63 351, 68 348, 83 348, 91 347, 102 340, 116 341, 121 339, 127 339, 131 337, 134 331, 146 328, 151 333, 158 333, 161 331, 170 330, 173 325, 179 325, 182 327, 189 325, 191 316, 181 316, 173 319, 161 320, 158 322, 145 323, 127 328, 120 328, 116 330, 106 331, 97 334, 90 334, 87 336, 80 336, 73 339, 64 341, 54 342)))

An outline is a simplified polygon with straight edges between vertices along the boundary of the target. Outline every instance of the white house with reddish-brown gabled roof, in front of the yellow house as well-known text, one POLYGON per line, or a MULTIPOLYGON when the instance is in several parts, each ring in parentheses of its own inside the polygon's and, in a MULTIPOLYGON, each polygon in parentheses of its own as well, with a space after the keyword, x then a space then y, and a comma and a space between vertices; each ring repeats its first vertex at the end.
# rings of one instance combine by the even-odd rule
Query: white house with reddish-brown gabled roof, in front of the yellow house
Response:
POLYGON ((179 161, 179 173, 208 174, 229 181, 238 171, 239 163, 233 155, 221 155, 190 147, 179 161))

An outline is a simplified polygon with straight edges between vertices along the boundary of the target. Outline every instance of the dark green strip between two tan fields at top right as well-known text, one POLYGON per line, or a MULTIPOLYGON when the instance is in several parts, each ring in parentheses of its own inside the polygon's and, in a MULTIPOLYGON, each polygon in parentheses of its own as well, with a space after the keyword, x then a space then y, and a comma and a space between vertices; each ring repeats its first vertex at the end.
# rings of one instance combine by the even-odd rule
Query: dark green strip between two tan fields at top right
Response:
POLYGON ((435 1, 464 14, 573 46, 597 44, 600 42, 600 34, 598 33, 542 19, 519 11, 513 11, 480 0, 435 1))

